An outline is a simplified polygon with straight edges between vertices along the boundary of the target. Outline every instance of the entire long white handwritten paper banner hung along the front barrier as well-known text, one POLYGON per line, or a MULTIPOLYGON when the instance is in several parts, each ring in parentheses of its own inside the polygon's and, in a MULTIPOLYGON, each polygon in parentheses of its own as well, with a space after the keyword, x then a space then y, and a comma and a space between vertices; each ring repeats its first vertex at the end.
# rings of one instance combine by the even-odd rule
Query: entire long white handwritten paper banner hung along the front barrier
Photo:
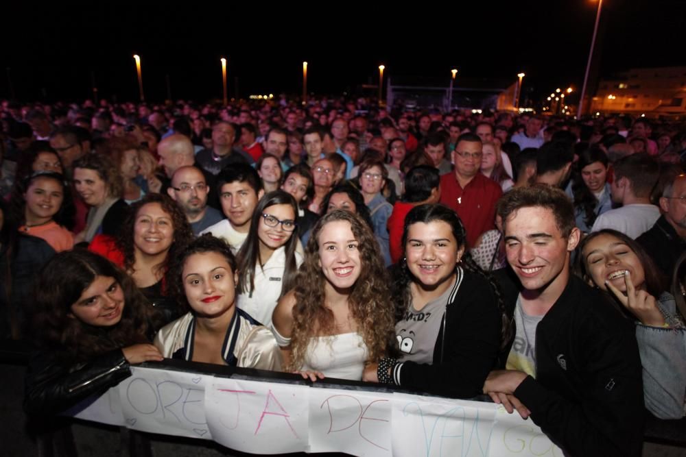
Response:
POLYGON ((533 421, 492 403, 140 367, 68 414, 252 454, 563 457, 533 421))

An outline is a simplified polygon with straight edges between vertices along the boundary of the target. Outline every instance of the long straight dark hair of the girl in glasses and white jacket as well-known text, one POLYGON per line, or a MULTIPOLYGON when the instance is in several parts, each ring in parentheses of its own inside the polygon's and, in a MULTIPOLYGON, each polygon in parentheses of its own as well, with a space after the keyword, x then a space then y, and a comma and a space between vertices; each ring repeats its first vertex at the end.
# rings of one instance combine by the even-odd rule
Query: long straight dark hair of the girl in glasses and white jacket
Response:
MULTIPOLYGON (((255 269, 259 262, 260 267, 263 264, 259 258, 259 236, 257 236, 257 227, 262 223, 262 214, 264 210, 274 205, 289 205, 293 208, 294 220, 298 217, 298 203, 292 195, 283 190, 274 190, 264 195, 258 202, 255 211, 252 212, 252 221, 250 221, 250 232, 248 238, 238 252, 238 290, 243 293, 252 293, 255 291, 255 269)), ((294 230, 291 232, 291 237, 288 238, 285 244, 286 267, 283 271, 283 279, 281 280, 281 293, 289 291, 293 287, 296 274, 298 273, 298 264, 296 263, 296 247, 298 246, 298 234, 294 230)))

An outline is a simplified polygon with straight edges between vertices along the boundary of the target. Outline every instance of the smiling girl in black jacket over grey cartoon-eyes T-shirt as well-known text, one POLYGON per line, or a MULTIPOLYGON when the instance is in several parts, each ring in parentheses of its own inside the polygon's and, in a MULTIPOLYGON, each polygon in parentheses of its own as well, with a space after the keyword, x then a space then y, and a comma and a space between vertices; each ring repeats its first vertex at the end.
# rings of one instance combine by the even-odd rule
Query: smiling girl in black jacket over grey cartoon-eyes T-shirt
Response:
POLYGON ((458 215, 420 205, 405 217, 405 258, 392 270, 401 356, 364 380, 469 398, 479 395, 510 331, 497 287, 471 260, 458 215))

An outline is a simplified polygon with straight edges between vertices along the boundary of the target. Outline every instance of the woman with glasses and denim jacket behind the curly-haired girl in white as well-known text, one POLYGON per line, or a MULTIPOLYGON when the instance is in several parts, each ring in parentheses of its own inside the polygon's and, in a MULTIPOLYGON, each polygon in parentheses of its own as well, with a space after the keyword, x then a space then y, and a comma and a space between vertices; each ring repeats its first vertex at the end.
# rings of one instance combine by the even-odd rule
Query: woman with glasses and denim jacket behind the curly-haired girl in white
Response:
POLYGON ((359 187, 362 190, 364 203, 369 208, 374 234, 381 243, 381 252, 384 254, 383 260, 388 266, 390 264, 390 255, 386 255, 390 253, 388 248, 388 218, 393 212, 393 207, 381 194, 387 177, 388 170, 380 160, 365 160, 359 164, 359 187))

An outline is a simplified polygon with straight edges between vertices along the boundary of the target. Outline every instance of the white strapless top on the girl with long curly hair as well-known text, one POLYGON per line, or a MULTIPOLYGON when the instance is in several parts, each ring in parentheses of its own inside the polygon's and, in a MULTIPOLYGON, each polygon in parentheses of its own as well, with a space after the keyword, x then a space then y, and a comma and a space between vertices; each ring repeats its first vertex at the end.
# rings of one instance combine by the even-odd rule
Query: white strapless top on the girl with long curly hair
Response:
POLYGON ((367 345, 357 332, 310 338, 303 370, 324 373, 327 378, 361 381, 367 345))

